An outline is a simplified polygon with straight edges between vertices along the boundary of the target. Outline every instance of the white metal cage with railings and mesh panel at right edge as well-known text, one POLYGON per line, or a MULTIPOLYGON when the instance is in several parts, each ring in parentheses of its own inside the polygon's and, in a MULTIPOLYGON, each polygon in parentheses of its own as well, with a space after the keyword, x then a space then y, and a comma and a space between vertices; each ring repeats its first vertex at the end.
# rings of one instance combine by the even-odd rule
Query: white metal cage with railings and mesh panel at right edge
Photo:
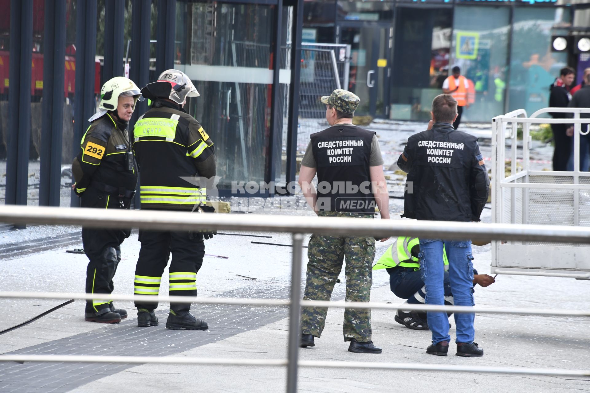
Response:
MULTIPOLYGON (((589 113, 590 108, 543 108, 529 117, 525 110, 519 109, 493 118, 491 204, 494 223, 588 225, 590 172, 580 168, 579 146, 580 135, 587 133, 581 126, 590 123, 590 119, 581 118, 581 114, 589 113), (539 118, 546 113, 569 114, 572 118, 539 118), (540 123, 573 124, 573 171, 535 170, 530 154, 530 126, 540 123), (522 136, 519 136, 519 127, 522 127, 522 136), (510 161, 506 169, 508 174, 505 173, 507 161, 510 161)), ((584 230, 590 228, 586 226, 584 230)), ((572 242, 563 240, 563 243, 572 242)), ((560 246, 557 249, 553 245, 530 245, 527 241, 494 240, 491 248, 492 273, 590 279, 590 247, 560 246), (569 263, 563 263, 564 260, 569 263)))

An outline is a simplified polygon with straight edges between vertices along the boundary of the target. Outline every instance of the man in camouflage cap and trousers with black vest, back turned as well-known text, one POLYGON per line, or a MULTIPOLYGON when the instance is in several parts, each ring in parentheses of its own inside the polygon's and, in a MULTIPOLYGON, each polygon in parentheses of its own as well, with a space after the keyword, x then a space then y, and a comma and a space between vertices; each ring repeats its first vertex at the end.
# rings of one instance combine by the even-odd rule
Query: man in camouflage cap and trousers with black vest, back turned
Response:
MULTIPOLYGON (((372 219, 378 207, 381 218, 389 219, 379 142, 373 131, 352 124, 359 97, 350 91, 335 90, 321 100, 326 104, 330 127, 310 136, 301 161, 299 184, 307 203, 320 217, 372 219), (320 190, 312 182, 316 173, 318 183, 324 185, 320 190)), ((307 256, 303 299, 330 300, 345 258, 346 300, 371 299, 373 237, 313 235, 307 256)), ((326 314, 326 308, 301 308, 300 346, 315 345, 314 338, 322 335, 326 314)), ((381 354, 381 348, 371 341, 370 309, 345 309, 343 333, 344 341, 350 342, 350 352, 381 354)))

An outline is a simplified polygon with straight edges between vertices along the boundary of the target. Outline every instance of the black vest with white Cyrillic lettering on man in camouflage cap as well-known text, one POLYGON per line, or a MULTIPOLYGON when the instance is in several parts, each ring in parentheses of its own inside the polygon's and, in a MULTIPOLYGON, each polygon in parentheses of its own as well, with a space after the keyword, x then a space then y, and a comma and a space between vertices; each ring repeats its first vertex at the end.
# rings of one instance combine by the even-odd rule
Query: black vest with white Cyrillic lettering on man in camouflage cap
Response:
POLYGON ((311 135, 319 210, 375 213, 369 172, 373 137, 373 131, 348 124, 311 135))

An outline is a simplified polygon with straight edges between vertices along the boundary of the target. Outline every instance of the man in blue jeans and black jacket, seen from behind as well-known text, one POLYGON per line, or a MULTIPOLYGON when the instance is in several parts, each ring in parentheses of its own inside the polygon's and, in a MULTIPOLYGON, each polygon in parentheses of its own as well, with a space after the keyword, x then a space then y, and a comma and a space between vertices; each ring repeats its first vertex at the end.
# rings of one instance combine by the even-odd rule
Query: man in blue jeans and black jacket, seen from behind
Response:
MULTIPOLYGON (((408 173, 404 214, 417 220, 480 221, 490 181, 477 138, 453 130, 457 101, 441 94, 432 101, 432 127, 408 138, 398 160, 408 173), (409 184, 412 187, 409 187, 409 184)), ((474 306, 471 240, 419 239, 420 272, 426 286, 426 303, 444 305, 443 247, 456 306, 474 306)), ((457 356, 483 356, 473 342, 474 313, 455 313, 457 356)), ((445 312, 428 312, 432 345, 427 354, 447 356, 451 336, 445 312)))

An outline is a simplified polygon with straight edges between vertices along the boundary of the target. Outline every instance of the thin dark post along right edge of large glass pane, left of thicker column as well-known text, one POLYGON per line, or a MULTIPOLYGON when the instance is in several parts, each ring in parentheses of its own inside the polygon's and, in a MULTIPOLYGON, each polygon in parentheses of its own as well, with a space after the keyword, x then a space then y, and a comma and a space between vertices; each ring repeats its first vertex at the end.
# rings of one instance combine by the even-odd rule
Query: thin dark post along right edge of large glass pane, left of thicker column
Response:
MULTIPOLYGON (((282 32, 282 21, 283 21, 283 2, 279 1, 278 4, 275 6, 274 9, 274 42, 272 45, 272 67, 273 67, 273 87, 270 93, 270 102, 271 102, 271 111, 270 111, 270 124, 271 130, 268 136, 268 155, 267 155, 267 183, 271 184, 274 182, 276 177, 275 171, 275 160, 277 157, 275 155, 278 153, 278 161, 281 160, 281 127, 283 126, 283 119, 280 115, 282 113, 283 108, 281 104, 283 100, 278 99, 278 95, 280 94, 280 83, 278 80, 278 75, 281 68, 281 32, 282 32), (279 142, 278 148, 276 146, 276 142, 279 142), (277 151, 278 150, 278 151, 277 151)), ((278 166, 280 168, 280 166, 278 166)), ((280 169, 279 169, 280 171, 280 169)), ((265 191, 266 192, 266 191, 265 191)), ((274 194, 274 190, 271 193, 274 194)))

